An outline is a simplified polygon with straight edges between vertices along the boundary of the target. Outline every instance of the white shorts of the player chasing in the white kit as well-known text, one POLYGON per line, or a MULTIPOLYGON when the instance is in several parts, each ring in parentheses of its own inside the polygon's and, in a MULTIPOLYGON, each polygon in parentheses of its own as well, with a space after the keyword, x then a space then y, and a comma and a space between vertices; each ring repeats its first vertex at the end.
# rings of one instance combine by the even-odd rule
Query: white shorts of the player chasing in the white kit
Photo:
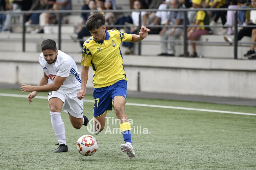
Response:
POLYGON ((79 100, 77 93, 80 89, 76 89, 73 93, 67 93, 62 89, 50 91, 48 93, 48 101, 52 97, 57 97, 63 101, 62 112, 70 113, 73 117, 83 118, 84 116, 84 99, 79 100))

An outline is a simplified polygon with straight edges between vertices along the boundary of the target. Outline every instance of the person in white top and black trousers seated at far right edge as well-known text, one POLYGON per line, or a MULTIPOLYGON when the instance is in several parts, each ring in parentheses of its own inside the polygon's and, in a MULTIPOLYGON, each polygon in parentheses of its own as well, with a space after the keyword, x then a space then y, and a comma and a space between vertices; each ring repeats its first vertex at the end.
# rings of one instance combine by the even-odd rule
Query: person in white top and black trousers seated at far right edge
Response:
MULTIPOLYGON (((256 0, 251 0, 251 3, 253 8, 256 8, 256 0)), ((249 37, 252 37, 251 42, 255 43, 256 42, 256 10, 251 10, 250 21, 248 22, 248 25, 254 26, 254 27, 243 27, 243 29, 241 29, 238 32, 237 40, 240 41, 244 36, 249 36, 249 37)), ((232 44, 234 41, 228 36, 224 36, 224 39, 230 44, 232 44)), ((256 52, 254 48, 255 48, 255 44, 251 44, 251 49, 247 51, 246 54, 244 54, 244 57, 249 57, 248 59, 256 59, 256 52)))

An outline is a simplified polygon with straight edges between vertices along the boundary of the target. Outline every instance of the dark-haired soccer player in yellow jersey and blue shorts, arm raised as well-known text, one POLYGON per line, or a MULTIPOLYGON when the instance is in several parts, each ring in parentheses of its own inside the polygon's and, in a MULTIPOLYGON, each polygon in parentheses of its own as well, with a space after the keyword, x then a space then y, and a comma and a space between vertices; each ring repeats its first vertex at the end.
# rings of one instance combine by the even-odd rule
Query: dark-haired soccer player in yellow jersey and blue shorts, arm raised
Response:
POLYGON ((77 94, 79 99, 84 98, 88 69, 92 66, 93 74, 93 98, 95 134, 105 127, 107 111, 115 110, 116 117, 120 120, 120 129, 125 144, 121 150, 128 154, 129 158, 135 157, 131 139, 131 124, 125 114, 124 106, 127 96, 126 73, 123 66, 123 56, 120 45, 123 41, 139 42, 147 37, 149 29, 141 26, 139 35, 126 34, 118 30, 106 30, 105 17, 98 12, 92 14, 87 22, 86 29, 92 37, 84 42, 81 65, 83 65, 81 78, 81 91, 77 94), (96 123, 98 122, 98 124, 96 123))

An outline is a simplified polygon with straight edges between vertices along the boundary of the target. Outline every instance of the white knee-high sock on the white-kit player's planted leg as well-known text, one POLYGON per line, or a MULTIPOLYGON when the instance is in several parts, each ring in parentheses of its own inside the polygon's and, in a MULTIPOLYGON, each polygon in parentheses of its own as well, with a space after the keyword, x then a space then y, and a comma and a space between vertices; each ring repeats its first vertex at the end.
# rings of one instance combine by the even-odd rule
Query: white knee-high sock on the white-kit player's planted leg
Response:
POLYGON ((60 112, 50 112, 52 128, 60 144, 66 145, 66 133, 64 123, 60 117, 60 112))

